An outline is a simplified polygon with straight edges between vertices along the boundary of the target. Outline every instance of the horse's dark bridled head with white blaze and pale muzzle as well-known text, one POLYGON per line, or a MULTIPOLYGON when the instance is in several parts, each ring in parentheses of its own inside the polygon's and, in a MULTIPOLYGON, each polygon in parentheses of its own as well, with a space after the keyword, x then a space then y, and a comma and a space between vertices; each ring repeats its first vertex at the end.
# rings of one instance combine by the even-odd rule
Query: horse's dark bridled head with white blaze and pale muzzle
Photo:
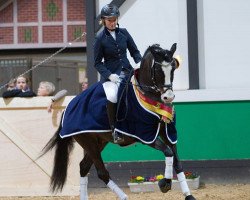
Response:
POLYGON ((176 51, 176 43, 170 50, 154 44, 146 50, 138 75, 138 83, 141 89, 149 97, 170 103, 174 99, 172 83, 174 71, 178 67, 178 61, 173 57, 176 51))

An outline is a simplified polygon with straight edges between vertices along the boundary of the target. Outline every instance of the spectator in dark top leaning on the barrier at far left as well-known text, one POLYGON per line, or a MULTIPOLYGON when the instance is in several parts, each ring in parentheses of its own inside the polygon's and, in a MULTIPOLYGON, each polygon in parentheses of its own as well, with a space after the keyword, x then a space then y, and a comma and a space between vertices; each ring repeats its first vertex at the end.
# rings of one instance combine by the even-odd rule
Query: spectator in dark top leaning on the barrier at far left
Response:
POLYGON ((29 78, 20 75, 16 79, 16 87, 3 93, 3 98, 11 97, 34 97, 36 94, 29 88, 29 78))

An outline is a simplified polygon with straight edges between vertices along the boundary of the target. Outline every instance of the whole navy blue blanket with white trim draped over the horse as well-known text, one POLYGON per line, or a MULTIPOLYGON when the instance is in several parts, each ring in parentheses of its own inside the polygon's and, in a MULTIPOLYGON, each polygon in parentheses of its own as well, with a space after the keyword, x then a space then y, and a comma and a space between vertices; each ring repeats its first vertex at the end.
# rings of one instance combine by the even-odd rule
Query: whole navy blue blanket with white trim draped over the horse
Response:
MULTIPOLYGON (((122 84, 118 92, 116 131, 150 144, 158 135, 160 116, 140 105, 131 84, 125 90, 124 87, 122 84)), ((111 131, 106 104, 101 82, 77 95, 64 112, 60 136, 64 138, 87 132, 102 134, 111 131)))

